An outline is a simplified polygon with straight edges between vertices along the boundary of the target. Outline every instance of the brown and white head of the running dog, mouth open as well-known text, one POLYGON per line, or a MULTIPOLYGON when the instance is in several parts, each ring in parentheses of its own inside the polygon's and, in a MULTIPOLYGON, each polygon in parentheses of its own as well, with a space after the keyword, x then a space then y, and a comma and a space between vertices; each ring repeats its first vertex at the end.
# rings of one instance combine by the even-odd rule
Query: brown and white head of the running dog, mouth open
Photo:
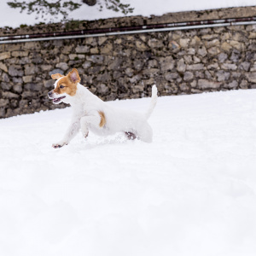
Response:
POLYGON ((51 78, 57 79, 57 81, 55 81, 55 89, 48 93, 49 99, 55 104, 68 103, 70 97, 76 95, 78 84, 81 80, 77 69, 73 68, 67 76, 63 76, 60 73, 52 74, 51 78))

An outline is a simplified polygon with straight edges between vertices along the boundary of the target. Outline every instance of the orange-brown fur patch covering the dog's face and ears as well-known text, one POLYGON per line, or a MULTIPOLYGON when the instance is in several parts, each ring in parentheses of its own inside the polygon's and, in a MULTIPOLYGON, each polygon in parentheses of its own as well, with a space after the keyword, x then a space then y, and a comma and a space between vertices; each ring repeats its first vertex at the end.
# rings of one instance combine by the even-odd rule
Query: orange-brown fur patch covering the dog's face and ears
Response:
POLYGON ((63 94, 63 93, 67 93, 69 96, 74 96, 77 92, 77 84, 80 82, 80 77, 79 77, 79 72, 73 68, 73 70, 67 74, 67 76, 62 76, 58 73, 56 73, 55 78, 59 77, 59 81, 55 87, 55 90, 53 90, 53 92, 55 94, 63 94), (60 79, 61 78, 61 79, 60 79))

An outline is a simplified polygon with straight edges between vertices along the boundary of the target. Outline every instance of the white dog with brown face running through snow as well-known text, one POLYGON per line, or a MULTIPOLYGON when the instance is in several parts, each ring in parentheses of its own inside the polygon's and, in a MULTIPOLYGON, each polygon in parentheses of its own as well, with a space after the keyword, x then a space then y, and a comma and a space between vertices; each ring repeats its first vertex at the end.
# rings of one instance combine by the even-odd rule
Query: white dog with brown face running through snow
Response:
POLYGON ((114 108, 108 102, 103 102, 80 83, 79 72, 76 68, 67 76, 60 73, 51 75, 55 79, 55 89, 48 93, 49 99, 54 104, 61 102, 70 104, 73 108, 71 125, 65 136, 53 148, 61 148, 70 143, 81 129, 84 137, 88 137, 89 131, 100 136, 112 135, 123 132, 130 139, 140 139, 145 143, 152 142, 152 128, 148 125, 148 118, 154 110, 157 102, 157 88, 152 87, 150 106, 146 113, 114 108))

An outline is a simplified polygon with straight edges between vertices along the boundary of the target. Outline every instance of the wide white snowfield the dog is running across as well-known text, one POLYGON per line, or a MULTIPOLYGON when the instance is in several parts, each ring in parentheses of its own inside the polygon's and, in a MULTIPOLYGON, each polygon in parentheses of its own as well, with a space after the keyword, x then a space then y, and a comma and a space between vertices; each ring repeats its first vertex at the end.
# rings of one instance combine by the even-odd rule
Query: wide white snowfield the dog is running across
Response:
POLYGON ((255 98, 159 97, 150 144, 90 134, 51 148, 70 108, 0 119, 0 255, 255 255, 255 98))

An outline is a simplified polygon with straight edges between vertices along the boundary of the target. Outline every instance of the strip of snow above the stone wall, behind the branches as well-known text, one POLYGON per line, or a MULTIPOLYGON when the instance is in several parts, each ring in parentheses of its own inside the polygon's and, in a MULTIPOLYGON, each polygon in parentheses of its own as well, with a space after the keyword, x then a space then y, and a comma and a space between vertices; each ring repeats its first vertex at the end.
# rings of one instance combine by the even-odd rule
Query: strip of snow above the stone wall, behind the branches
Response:
MULTIPOLYGON (((20 24, 34 25, 39 22, 49 22, 42 18, 36 20, 36 15, 26 15, 26 11, 20 14, 19 9, 11 9, 7 5, 8 2, 14 2, 14 0, 3 0, 0 2, 0 17, 1 26, 17 27, 20 24)), ((52 0, 52 2, 55 2, 52 0)), ((81 3, 81 0, 73 0, 73 2, 81 3)), ((102 0, 103 2, 103 0, 102 0)), ((220 9, 230 7, 241 7, 241 6, 253 6, 255 5, 254 0, 149 0, 149 1, 138 1, 138 0, 122 0, 121 3, 131 4, 131 8, 134 8, 132 14, 129 15, 164 15, 166 13, 179 12, 179 11, 190 11, 190 10, 204 10, 204 9, 220 9), (145 4, 147 3, 147 4, 145 4)), ((112 17, 122 16, 121 13, 116 13, 112 10, 104 9, 102 12, 99 11, 98 5, 90 7, 85 4, 81 8, 71 12, 69 19, 73 20, 98 20, 107 19, 112 17)), ((56 19, 55 22, 60 21, 56 19)))

